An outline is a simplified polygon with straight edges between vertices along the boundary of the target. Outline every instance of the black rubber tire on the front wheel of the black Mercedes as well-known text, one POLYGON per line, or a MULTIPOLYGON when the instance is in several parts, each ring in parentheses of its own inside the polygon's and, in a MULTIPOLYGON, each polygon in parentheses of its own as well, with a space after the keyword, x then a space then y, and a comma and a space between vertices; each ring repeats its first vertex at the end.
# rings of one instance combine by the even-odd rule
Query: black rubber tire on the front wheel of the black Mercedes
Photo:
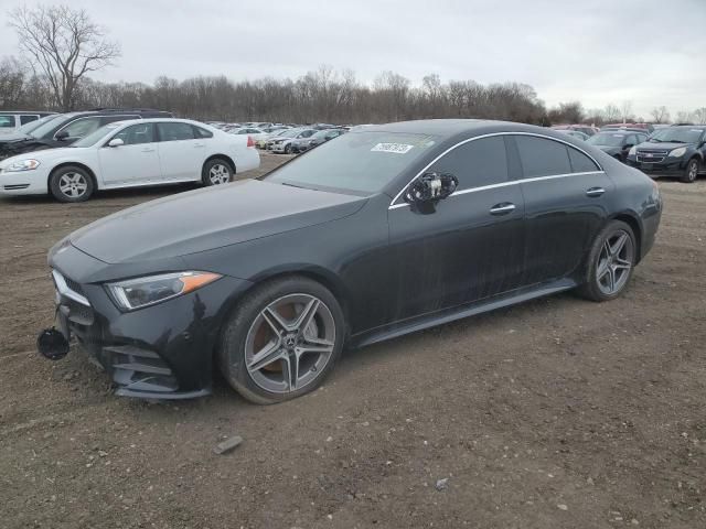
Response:
MULTIPOLYGON (((297 316, 297 314, 293 314, 293 317, 297 316)), ((319 316, 317 315, 315 317, 319 316)), ((264 325, 268 332, 271 332, 269 331, 270 327, 265 323, 260 323, 259 325, 264 325)), ((323 325, 318 328, 323 328, 323 325)), ((270 341, 272 338, 277 339, 274 333, 272 337, 268 338, 268 344, 271 343, 270 341)), ((333 370, 335 363, 341 356, 344 338, 345 319, 335 296, 317 281, 299 276, 291 276, 264 282, 238 303, 236 310, 224 324, 216 355, 221 373, 240 396, 257 404, 271 404, 300 397, 319 387, 333 370), (250 339, 255 339, 250 338, 250 336, 257 336, 259 333, 257 322, 258 319, 260 319, 261 322, 263 311, 271 303, 277 303, 281 299, 287 299, 287 296, 297 295, 312 296, 320 301, 322 306, 328 309, 329 312, 327 312, 327 315, 332 319, 329 321, 334 323, 333 348, 331 353, 328 353, 328 359, 324 366, 319 366, 318 368, 315 366, 310 367, 309 371, 304 374, 304 376, 314 377, 309 382, 296 389, 291 389, 290 386, 290 389, 286 391, 270 391, 263 387, 263 376, 266 375, 265 384, 267 384, 267 376, 270 374, 274 379, 284 378, 285 361, 282 359, 275 360, 269 364, 267 368, 264 367, 253 375, 246 366, 246 347, 250 343, 250 339), (272 366, 275 366, 274 369, 272 366), (277 373, 277 366, 280 368, 279 374, 277 373), (259 384, 254 377, 260 377, 259 384)), ((279 345, 276 345, 274 348, 279 348, 285 352, 284 338, 279 341, 279 345)), ((293 352, 285 352, 284 354, 292 355, 293 352)), ((303 355, 301 358, 303 358, 303 355)), ((250 366, 253 366, 253 363, 250 366)))

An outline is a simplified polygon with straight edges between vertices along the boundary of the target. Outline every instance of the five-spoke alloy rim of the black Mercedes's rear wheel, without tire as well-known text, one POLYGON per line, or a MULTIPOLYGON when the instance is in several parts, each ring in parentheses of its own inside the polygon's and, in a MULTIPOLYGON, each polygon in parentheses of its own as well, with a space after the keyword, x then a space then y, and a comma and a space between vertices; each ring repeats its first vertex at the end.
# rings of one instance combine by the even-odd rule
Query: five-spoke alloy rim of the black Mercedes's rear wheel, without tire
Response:
POLYGON ((603 241, 598 256, 596 279, 598 288, 606 295, 612 295, 622 290, 630 278, 634 248, 630 235, 616 230, 603 241))

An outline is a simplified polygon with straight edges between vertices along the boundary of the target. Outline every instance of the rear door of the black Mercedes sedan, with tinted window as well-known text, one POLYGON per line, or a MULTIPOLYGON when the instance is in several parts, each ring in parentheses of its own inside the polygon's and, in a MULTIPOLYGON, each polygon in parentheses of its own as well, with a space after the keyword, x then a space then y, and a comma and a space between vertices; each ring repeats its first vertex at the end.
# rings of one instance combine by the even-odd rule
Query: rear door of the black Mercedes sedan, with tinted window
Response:
POLYGON ((522 166, 526 276, 535 284, 576 271, 608 216, 614 191, 590 156, 559 140, 513 134, 522 166))

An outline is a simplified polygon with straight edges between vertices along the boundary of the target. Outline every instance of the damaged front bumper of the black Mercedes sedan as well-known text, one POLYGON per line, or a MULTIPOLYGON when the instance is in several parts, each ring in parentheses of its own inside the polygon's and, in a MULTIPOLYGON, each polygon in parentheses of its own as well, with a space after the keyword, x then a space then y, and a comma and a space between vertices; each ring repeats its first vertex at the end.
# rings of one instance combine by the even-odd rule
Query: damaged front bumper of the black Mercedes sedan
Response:
POLYGON ((221 325, 249 283, 223 277, 192 293, 125 313, 101 283, 77 278, 87 267, 72 264, 92 259, 69 247, 50 262, 60 327, 107 371, 116 395, 152 399, 208 395, 221 325))

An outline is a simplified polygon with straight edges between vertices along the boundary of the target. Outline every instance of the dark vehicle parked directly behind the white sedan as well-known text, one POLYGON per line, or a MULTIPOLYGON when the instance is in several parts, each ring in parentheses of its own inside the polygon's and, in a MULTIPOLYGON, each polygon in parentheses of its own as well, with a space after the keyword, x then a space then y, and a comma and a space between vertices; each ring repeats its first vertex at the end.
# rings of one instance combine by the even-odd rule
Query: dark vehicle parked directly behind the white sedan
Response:
POLYGON ((2 141, 0 137, 0 160, 25 152, 68 147, 73 142, 114 121, 140 118, 171 118, 171 112, 145 108, 99 108, 85 112, 62 114, 58 118, 44 122, 23 138, 2 141))

